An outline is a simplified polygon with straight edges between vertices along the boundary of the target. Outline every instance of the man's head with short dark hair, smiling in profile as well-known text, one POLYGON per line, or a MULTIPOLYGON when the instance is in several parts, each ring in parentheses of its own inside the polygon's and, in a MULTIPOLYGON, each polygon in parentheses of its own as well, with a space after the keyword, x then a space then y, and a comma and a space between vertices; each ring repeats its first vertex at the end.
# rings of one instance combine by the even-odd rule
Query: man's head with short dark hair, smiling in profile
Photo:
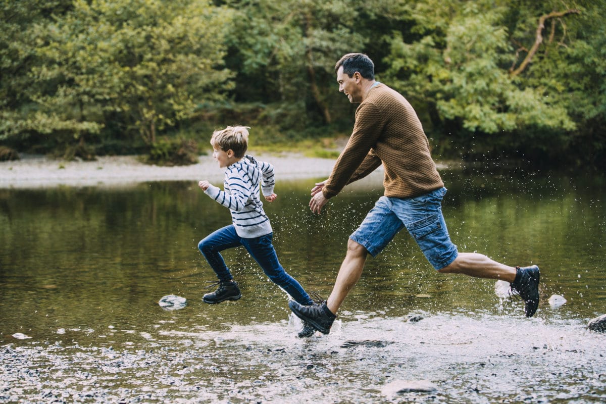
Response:
POLYGON ((352 104, 364 101, 365 94, 375 81, 375 65, 362 53, 348 53, 335 65, 339 91, 352 104))

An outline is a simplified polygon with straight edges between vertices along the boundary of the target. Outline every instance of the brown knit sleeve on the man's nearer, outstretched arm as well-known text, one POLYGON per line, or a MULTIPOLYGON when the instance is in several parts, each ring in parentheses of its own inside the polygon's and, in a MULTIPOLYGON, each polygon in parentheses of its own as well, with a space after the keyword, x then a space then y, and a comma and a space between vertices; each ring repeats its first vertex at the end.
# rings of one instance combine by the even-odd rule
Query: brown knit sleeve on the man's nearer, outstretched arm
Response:
MULTIPOLYGON (((371 172, 370 167, 379 167, 371 148, 381 136, 383 122, 378 108, 371 104, 359 105, 353 133, 333 167, 333 172, 324 183, 322 193, 326 198, 336 196, 345 185, 371 172), (364 162, 364 165, 362 165, 364 162), (370 170, 370 171, 369 171, 370 170), (356 176, 354 176, 356 174, 356 176)), ((381 164, 380 160, 378 161, 381 164)), ((374 170, 373 168, 373 170, 374 170)))

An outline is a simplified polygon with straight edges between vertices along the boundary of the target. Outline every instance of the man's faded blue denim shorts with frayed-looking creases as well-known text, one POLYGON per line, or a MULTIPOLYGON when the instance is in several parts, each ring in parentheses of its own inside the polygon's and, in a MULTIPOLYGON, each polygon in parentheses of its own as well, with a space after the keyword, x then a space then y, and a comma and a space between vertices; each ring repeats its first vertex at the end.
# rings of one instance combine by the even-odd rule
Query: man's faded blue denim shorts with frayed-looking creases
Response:
POLYGON ((458 251, 442 215, 445 194, 442 187, 410 198, 382 196, 349 238, 375 257, 405 227, 436 270, 448 267, 458 251))

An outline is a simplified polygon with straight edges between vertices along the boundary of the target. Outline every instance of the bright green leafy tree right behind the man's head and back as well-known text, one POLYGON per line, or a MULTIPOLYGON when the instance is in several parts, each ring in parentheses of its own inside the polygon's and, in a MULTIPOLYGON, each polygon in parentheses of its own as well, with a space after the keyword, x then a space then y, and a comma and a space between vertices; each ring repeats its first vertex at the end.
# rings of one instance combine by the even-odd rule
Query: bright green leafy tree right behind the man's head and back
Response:
POLYGON ((576 129, 567 105, 548 88, 512 73, 516 52, 505 25, 512 12, 508 2, 453 0, 441 8, 419 2, 408 11, 415 25, 393 34, 385 77, 427 105, 443 142, 472 153, 513 150, 528 142, 547 147, 547 139, 529 129, 542 134, 576 129))

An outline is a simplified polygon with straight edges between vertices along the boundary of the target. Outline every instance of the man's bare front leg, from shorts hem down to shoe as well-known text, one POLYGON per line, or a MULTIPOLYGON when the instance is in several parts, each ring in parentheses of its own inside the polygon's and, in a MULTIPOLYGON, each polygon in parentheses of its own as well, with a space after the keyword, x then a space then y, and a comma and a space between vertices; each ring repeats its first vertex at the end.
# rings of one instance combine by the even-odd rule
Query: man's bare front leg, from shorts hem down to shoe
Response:
POLYGON ((333 312, 333 314, 337 313, 345 300, 345 296, 347 296, 351 288, 360 279, 367 254, 368 251, 366 251, 366 248, 354 240, 348 239, 347 254, 345 254, 345 259, 341 263, 341 268, 339 268, 339 274, 335 280, 333 291, 326 302, 328 310, 333 312))

